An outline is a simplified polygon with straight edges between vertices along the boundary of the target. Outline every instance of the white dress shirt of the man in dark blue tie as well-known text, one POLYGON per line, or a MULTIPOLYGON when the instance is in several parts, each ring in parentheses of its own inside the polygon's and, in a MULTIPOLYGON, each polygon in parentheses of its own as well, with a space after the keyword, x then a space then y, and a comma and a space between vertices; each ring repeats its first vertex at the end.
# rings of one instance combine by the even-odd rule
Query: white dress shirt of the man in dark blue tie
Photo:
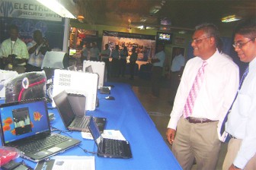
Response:
POLYGON ((226 131, 242 139, 242 145, 233 162, 245 168, 248 160, 256 153, 256 58, 249 63, 249 72, 238 91, 226 122, 226 131))

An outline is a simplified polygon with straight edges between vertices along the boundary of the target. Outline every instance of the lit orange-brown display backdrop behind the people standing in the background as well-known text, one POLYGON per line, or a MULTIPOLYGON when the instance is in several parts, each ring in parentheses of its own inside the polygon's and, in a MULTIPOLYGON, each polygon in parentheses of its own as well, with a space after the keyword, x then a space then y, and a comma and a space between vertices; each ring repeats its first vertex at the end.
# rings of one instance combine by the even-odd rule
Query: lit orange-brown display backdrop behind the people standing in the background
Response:
POLYGON ((105 44, 109 45, 110 50, 116 45, 119 45, 120 49, 126 46, 129 55, 133 47, 136 47, 139 61, 148 61, 148 58, 152 58, 155 54, 155 36, 104 31, 101 50, 104 49, 105 44))

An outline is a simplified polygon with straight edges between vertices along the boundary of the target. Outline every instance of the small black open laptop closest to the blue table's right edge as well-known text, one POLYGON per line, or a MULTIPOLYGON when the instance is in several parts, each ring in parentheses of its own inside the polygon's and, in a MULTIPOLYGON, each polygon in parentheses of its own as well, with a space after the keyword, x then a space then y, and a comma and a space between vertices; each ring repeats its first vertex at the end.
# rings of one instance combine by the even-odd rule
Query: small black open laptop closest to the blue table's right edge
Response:
POLYGON ((98 156, 123 159, 133 157, 130 149, 130 143, 128 141, 103 138, 94 118, 92 117, 90 118, 88 128, 91 132, 91 136, 94 138, 94 141, 98 146, 98 156))

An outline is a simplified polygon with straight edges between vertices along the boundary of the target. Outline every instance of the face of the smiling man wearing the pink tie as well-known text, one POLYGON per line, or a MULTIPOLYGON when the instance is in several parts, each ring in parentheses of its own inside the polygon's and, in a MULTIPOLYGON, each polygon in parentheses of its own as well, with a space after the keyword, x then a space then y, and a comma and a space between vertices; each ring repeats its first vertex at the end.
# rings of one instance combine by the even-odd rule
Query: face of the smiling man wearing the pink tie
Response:
POLYGON ((203 30, 197 30, 192 39, 191 46, 194 49, 194 55, 203 59, 207 58, 210 49, 213 48, 213 44, 210 41, 211 37, 206 35, 203 30))

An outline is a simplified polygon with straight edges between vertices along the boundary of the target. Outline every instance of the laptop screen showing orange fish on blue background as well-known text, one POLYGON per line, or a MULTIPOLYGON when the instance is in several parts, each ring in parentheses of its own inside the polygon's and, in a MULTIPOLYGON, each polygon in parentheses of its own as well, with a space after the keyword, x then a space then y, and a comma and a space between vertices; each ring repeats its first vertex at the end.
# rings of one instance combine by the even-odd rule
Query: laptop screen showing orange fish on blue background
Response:
POLYGON ((2 143, 50 132, 46 102, 31 100, 0 105, 2 143))

